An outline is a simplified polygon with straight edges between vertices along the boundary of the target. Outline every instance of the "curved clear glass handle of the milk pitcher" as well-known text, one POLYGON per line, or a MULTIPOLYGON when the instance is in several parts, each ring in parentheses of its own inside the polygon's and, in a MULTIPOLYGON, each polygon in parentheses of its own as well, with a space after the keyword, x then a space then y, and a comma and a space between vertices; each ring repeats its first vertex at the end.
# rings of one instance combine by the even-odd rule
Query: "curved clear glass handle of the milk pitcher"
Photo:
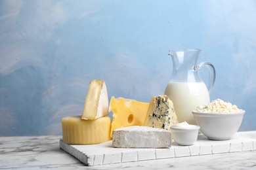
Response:
POLYGON ((201 69, 203 66, 207 66, 208 70, 209 70, 209 81, 207 84, 207 89, 209 94, 211 93, 211 91, 213 90, 213 85, 215 83, 215 76, 216 76, 216 71, 215 68, 213 66, 212 63, 209 62, 202 62, 198 64, 198 69, 201 69))

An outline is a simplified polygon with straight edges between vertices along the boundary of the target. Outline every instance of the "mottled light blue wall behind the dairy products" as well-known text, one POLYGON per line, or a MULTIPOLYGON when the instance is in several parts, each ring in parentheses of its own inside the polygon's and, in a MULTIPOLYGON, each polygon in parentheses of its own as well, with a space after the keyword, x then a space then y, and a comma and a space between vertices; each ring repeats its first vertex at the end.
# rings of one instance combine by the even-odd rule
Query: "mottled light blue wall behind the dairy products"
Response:
MULTIPOLYGON (((0 135, 61 135, 89 81, 109 98, 149 102, 171 78, 169 50, 201 48, 211 100, 246 110, 256 130, 256 1, 0 1, 0 135)), ((110 116, 112 116, 110 114, 110 116)))

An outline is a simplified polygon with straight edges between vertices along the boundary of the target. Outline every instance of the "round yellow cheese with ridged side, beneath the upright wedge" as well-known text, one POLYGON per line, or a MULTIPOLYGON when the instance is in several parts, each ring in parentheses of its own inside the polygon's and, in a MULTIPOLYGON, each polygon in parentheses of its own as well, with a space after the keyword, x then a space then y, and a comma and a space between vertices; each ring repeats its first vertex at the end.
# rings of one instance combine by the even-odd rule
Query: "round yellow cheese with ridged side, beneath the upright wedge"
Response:
POLYGON ((67 144, 98 144, 110 141, 111 118, 83 120, 81 116, 62 118, 63 141, 67 144))

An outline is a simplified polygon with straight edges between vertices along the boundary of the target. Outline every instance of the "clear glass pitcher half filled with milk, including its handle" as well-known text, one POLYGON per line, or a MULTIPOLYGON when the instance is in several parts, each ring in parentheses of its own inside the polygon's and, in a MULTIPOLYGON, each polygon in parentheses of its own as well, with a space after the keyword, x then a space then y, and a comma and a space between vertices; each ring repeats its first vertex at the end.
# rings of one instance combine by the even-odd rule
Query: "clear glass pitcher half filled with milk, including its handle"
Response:
POLYGON ((173 75, 165 88, 165 95, 168 95, 173 101, 180 123, 186 121, 188 124, 196 125, 192 110, 199 105, 210 103, 209 94, 215 83, 215 68, 209 62, 198 64, 200 52, 200 49, 169 52, 173 59, 173 75), (207 85, 205 85, 198 73, 204 65, 208 67, 209 71, 207 85))

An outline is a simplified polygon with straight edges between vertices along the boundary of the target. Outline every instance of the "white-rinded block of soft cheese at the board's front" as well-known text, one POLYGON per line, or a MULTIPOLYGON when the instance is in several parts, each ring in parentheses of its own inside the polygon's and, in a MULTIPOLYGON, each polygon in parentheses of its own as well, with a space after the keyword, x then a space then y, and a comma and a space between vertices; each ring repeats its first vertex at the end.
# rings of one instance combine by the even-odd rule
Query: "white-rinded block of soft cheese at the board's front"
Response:
POLYGON ((117 148, 168 148, 171 131, 165 129, 130 126, 113 131, 112 145, 117 148))

